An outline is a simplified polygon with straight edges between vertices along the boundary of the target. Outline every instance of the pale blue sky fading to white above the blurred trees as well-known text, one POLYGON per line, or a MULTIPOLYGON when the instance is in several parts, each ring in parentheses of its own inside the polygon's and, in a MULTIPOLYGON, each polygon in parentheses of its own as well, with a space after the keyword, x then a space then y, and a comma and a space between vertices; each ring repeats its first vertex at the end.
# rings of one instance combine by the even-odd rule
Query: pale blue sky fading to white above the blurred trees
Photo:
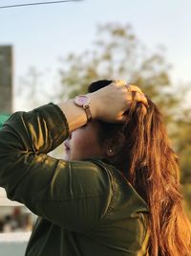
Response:
MULTIPOLYGON (((0 6, 41 0, 0 0, 0 6)), ((50 0, 47 0, 50 1, 50 0)), ((45 1, 41 1, 45 2, 45 1)), ((172 81, 191 81, 190 0, 84 0, 73 3, 0 9, 0 45, 13 46, 14 90, 30 67, 53 81, 58 59, 88 49, 97 24, 131 24, 149 49, 163 45, 173 65, 172 81)), ((14 109, 19 108, 19 97, 14 109)))

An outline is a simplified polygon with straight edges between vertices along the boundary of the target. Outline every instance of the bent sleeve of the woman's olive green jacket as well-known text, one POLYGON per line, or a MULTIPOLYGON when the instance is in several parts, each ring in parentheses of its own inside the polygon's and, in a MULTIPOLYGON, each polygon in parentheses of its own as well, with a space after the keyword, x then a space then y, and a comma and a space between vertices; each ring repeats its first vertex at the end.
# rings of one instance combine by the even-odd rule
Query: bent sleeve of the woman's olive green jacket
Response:
POLYGON ((65 161, 47 153, 67 138, 57 105, 16 112, 0 129, 0 186, 11 200, 73 231, 93 228, 111 200, 111 177, 92 161, 65 161))

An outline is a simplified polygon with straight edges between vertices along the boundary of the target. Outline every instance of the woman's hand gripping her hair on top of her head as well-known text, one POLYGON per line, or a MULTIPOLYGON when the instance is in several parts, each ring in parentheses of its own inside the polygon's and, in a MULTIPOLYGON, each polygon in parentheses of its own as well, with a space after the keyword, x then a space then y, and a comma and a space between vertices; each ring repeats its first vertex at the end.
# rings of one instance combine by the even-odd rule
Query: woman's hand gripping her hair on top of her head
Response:
POLYGON ((126 119, 123 114, 132 103, 132 92, 136 92, 136 101, 148 105, 138 86, 121 80, 113 81, 96 92, 90 93, 88 96, 93 118, 111 123, 123 122, 126 119))

